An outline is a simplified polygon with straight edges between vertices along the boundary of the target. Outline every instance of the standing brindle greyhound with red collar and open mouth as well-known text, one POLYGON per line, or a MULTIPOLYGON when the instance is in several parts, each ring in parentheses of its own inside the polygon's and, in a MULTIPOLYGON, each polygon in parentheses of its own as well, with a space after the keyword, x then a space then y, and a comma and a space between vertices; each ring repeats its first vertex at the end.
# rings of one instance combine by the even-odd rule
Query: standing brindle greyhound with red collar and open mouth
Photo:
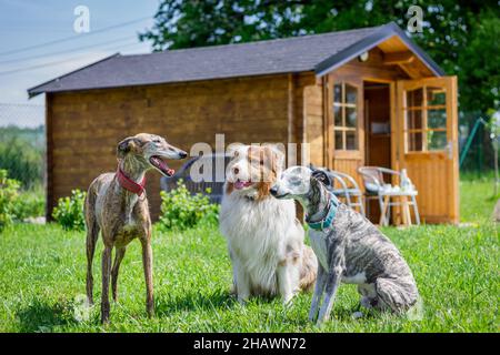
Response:
POLYGON ((146 197, 146 172, 156 169, 167 176, 174 171, 163 159, 183 159, 188 154, 167 143, 158 135, 140 133, 118 144, 118 170, 99 175, 89 186, 84 214, 87 224, 87 297, 93 303, 92 260, 99 231, 102 234, 102 296, 101 322, 109 322, 109 277, 111 275, 114 302, 118 298, 117 281, 127 245, 139 237, 146 277, 146 307, 153 315, 151 219, 146 197), (111 268, 111 252, 116 247, 111 268))

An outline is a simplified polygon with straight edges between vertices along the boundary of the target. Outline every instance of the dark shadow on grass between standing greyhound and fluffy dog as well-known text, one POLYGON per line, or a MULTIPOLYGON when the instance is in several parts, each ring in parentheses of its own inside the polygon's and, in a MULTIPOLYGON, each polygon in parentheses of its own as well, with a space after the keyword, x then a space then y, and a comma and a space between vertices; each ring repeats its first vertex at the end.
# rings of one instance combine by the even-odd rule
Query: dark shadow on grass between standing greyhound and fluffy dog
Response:
POLYGON ((181 295, 157 298, 156 313, 169 315, 182 311, 230 310, 237 304, 237 298, 229 291, 217 290, 208 295, 187 292, 181 295))

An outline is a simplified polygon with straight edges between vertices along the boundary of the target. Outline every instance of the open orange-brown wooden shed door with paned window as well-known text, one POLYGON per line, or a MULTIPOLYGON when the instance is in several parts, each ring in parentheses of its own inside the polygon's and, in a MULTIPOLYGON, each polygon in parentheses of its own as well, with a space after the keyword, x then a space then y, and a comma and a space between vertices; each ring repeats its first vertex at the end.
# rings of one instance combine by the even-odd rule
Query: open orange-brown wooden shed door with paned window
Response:
POLYGON ((427 223, 458 223, 457 77, 397 83, 399 163, 427 223), (401 139, 402 138, 402 139, 401 139))

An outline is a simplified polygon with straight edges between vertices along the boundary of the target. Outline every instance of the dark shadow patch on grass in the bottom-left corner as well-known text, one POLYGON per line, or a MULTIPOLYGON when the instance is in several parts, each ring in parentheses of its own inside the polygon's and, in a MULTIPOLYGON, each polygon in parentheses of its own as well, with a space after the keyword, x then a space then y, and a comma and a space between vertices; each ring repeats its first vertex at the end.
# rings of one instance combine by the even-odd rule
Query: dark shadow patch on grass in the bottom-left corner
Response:
POLYGON ((49 304, 34 300, 26 308, 17 312, 22 333, 50 333, 54 327, 77 324, 70 315, 71 305, 68 302, 49 304))

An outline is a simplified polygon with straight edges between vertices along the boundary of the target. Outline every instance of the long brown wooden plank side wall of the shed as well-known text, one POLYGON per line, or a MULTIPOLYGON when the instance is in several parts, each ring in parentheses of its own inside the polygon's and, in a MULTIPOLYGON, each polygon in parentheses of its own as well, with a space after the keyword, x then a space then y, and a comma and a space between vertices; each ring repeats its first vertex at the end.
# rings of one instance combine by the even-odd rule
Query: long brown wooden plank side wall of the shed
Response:
MULTIPOLYGON (((50 94, 48 213, 72 189, 87 190, 100 173, 114 171, 117 143, 139 132, 163 135, 187 151, 196 142, 213 148, 222 132, 226 144, 286 143, 288 88, 288 75, 272 75, 50 94)), ((148 174, 153 217, 159 180, 157 172, 148 174)))

